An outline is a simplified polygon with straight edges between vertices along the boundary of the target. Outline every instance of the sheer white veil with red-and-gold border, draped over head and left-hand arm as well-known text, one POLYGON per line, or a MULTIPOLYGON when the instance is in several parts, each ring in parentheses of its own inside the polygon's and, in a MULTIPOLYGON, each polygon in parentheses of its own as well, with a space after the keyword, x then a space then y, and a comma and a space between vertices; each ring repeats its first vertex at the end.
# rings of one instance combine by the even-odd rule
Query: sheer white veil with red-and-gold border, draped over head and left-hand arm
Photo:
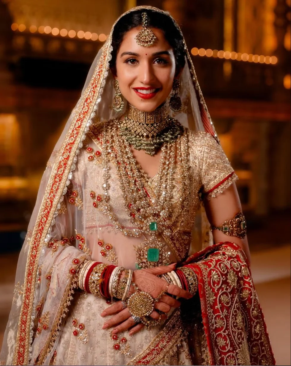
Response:
MULTIPOLYGON (((135 10, 162 12, 152 7, 137 7, 131 11, 135 10)), ((168 13, 163 13, 171 18, 168 13)), ((122 20, 122 16, 118 20, 122 20)), ((179 29, 175 20, 171 20, 179 29)), ((114 26, 91 66, 80 100, 66 123, 42 177, 27 236, 19 256, 14 301, 1 350, 0 361, 8 365, 41 364, 50 357, 55 340, 60 336, 76 284, 75 273, 71 268, 77 271, 78 266, 89 255, 84 254, 69 238, 63 240, 62 230, 55 225, 55 219, 64 205, 64 194, 78 164, 78 154, 90 124, 93 120, 95 123, 102 123, 122 114, 122 111, 118 114, 111 108, 114 87, 109 61, 113 30, 114 26), (50 246, 52 238, 57 242, 50 246), (65 243, 60 243, 61 241, 65 243), (54 246, 56 250, 51 255, 54 246), (78 259, 79 262, 73 263, 74 259, 78 259), (39 278, 50 276, 48 272, 52 267, 47 289, 39 278), (53 286, 57 271, 62 273, 62 281, 58 286, 53 286), (53 297, 50 292, 52 289, 53 297), (39 324, 36 324, 37 322, 39 324)), ((185 127, 207 131, 217 139, 186 45, 185 51, 187 62, 180 78, 183 105, 181 111, 173 117, 185 127)), ((84 184, 81 184, 80 189, 83 188, 84 184)), ((67 210, 65 217, 64 225, 71 223, 72 228, 73 223, 77 221, 76 210, 67 210)), ((85 215, 80 225, 85 227, 85 215)))

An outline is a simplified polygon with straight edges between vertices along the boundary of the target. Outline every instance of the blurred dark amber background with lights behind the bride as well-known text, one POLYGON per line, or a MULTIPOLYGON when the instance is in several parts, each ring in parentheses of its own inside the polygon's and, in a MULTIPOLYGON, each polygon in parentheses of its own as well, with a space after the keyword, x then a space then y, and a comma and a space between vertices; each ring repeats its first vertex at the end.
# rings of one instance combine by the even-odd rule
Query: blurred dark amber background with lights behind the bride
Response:
POLYGON ((168 10, 231 164, 277 364, 290 365, 290 0, 0 0, 0 344, 46 162, 116 18, 168 10))

